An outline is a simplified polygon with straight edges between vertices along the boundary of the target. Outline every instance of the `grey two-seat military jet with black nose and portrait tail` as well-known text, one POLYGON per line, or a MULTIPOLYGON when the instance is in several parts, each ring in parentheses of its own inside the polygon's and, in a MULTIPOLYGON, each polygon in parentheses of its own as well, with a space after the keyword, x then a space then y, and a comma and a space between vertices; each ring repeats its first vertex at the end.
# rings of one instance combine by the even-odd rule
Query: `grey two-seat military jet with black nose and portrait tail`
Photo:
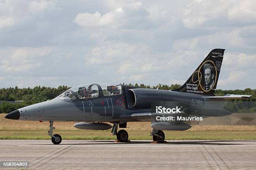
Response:
MULTIPOLYGON (((120 142, 128 141, 127 122, 152 121, 152 115, 162 115, 151 111, 154 102, 179 101, 187 106, 181 112, 169 113, 194 116, 205 108, 199 115, 204 117, 224 116, 230 112, 206 107, 207 101, 251 97, 250 95, 215 96, 224 49, 212 50, 195 72, 181 87, 175 90, 158 90, 132 87, 128 85, 86 84, 73 87, 58 97, 34 105, 20 108, 5 115, 7 119, 49 121, 48 135, 54 144, 61 143, 61 136, 53 135, 54 121, 76 121, 75 128, 84 130, 107 130, 117 136, 120 142), (109 123, 112 123, 110 125, 109 123)), ((183 121, 152 122, 151 136, 153 140, 163 142, 162 130, 187 130, 191 128, 183 121)))

